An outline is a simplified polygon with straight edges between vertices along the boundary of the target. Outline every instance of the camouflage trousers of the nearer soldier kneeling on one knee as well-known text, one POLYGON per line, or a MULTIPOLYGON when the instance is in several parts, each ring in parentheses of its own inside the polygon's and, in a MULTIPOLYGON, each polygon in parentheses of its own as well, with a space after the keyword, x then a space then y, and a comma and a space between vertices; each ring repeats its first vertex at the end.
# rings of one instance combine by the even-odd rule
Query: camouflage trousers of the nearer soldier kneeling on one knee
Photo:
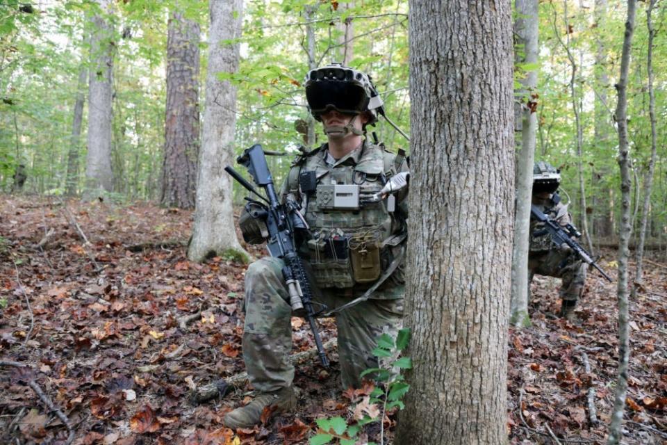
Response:
MULTIPOLYGON (((243 359, 248 378, 259 391, 292 385, 292 308, 283 282, 283 261, 264 257, 251 264, 245 275, 245 327, 243 359)), ((313 300, 333 309, 350 300, 336 289, 313 289, 313 300)), ((352 297, 363 291, 354 292, 352 297)), ((393 289, 395 295, 396 289, 393 289)), ((402 292, 400 293, 403 294, 402 292)), ((317 309, 317 306, 315 306, 317 309)), ((359 387, 359 374, 378 366, 371 351, 383 333, 395 335, 403 323, 403 299, 366 300, 336 314, 338 357, 343 388, 359 387)))

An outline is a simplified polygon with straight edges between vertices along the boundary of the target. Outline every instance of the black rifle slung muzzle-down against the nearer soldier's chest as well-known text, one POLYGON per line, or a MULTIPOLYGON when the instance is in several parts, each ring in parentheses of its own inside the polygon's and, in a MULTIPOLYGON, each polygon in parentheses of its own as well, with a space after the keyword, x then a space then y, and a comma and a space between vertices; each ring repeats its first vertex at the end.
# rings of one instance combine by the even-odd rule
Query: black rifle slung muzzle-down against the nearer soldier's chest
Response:
POLYGON ((304 309, 306 312, 306 320, 311 325, 320 361, 323 366, 328 367, 329 359, 327 359, 327 353, 324 352, 322 339, 320 339, 320 333, 318 332, 318 325, 315 322, 315 316, 318 315, 318 312, 315 312, 313 308, 311 284, 308 281, 304 264, 297 254, 296 249, 295 236, 304 234, 308 229, 306 221, 302 214, 299 213, 299 204, 293 198, 288 199, 285 204, 280 204, 261 145, 255 144, 245 149, 236 161, 247 168, 255 184, 264 189, 266 197, 260 195, 252 184, 246 181, 231 166, 227 165, 224 170, 236 179, 239 184, 247 188, 248 191, 266 202, 266 204, 263 204, 248 197, 245 198, 249 202, 246 204, 246 209, 249 213, 254 218, 262 220, 266 224, 269 232, 267 241, 269 254, 272 257, 281 258, 285 262, 282 272, 290 295, 290 305, 295 311, 304 309), (254 209, 249 209, 249 204, 254 204, 254 209), (257 206, 261 210, 258 210, 257 206))

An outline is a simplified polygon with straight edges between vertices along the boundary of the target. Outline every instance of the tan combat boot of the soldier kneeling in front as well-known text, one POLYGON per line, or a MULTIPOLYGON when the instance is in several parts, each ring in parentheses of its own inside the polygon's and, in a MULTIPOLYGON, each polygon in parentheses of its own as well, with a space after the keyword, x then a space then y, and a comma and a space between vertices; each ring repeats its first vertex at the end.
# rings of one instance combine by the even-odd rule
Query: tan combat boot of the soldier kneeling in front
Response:
POLYGON ((249 428, 261 422, 264 408, 270 406, 274 412, 286 412, 297 405, 297 398, 292 387, 274 392, 257 394, 252 402, 225 414, 222 422, 227 428, 249 428))

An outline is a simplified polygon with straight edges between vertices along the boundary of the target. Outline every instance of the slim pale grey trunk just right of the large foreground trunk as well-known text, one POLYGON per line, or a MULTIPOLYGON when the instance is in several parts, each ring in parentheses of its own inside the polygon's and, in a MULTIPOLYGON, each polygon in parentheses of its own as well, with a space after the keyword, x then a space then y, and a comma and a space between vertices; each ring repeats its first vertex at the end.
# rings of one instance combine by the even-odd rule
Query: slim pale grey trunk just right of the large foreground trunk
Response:
MULTIPOLYGON (((536 64, 538 61, 538 0, 516 0, 516 34, 518 44, 524 47, 521 62, 536 64)), ((514 219, 514 244, 512 252, 512 298, 510 323, 517 327, 529 326, 528 316, 528 243, 530 204, 533 186, 533 163, 537 136, 537 69, 522 79, 521 149, 516 158, 516 214, 514 219)))

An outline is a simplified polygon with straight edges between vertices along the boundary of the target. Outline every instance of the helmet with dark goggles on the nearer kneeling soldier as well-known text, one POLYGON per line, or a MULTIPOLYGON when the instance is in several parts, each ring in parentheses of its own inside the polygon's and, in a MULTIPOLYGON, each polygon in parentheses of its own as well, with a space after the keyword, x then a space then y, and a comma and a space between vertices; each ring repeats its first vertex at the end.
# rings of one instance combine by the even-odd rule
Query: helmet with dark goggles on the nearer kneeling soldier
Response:
POLYGON ((377 113, 384 112, 370 76, 340 63, 308 71, 305 86, 308 110, 320 122, 330 110, 353 115, 368 111, 368 124, 377 122, 377 113))

